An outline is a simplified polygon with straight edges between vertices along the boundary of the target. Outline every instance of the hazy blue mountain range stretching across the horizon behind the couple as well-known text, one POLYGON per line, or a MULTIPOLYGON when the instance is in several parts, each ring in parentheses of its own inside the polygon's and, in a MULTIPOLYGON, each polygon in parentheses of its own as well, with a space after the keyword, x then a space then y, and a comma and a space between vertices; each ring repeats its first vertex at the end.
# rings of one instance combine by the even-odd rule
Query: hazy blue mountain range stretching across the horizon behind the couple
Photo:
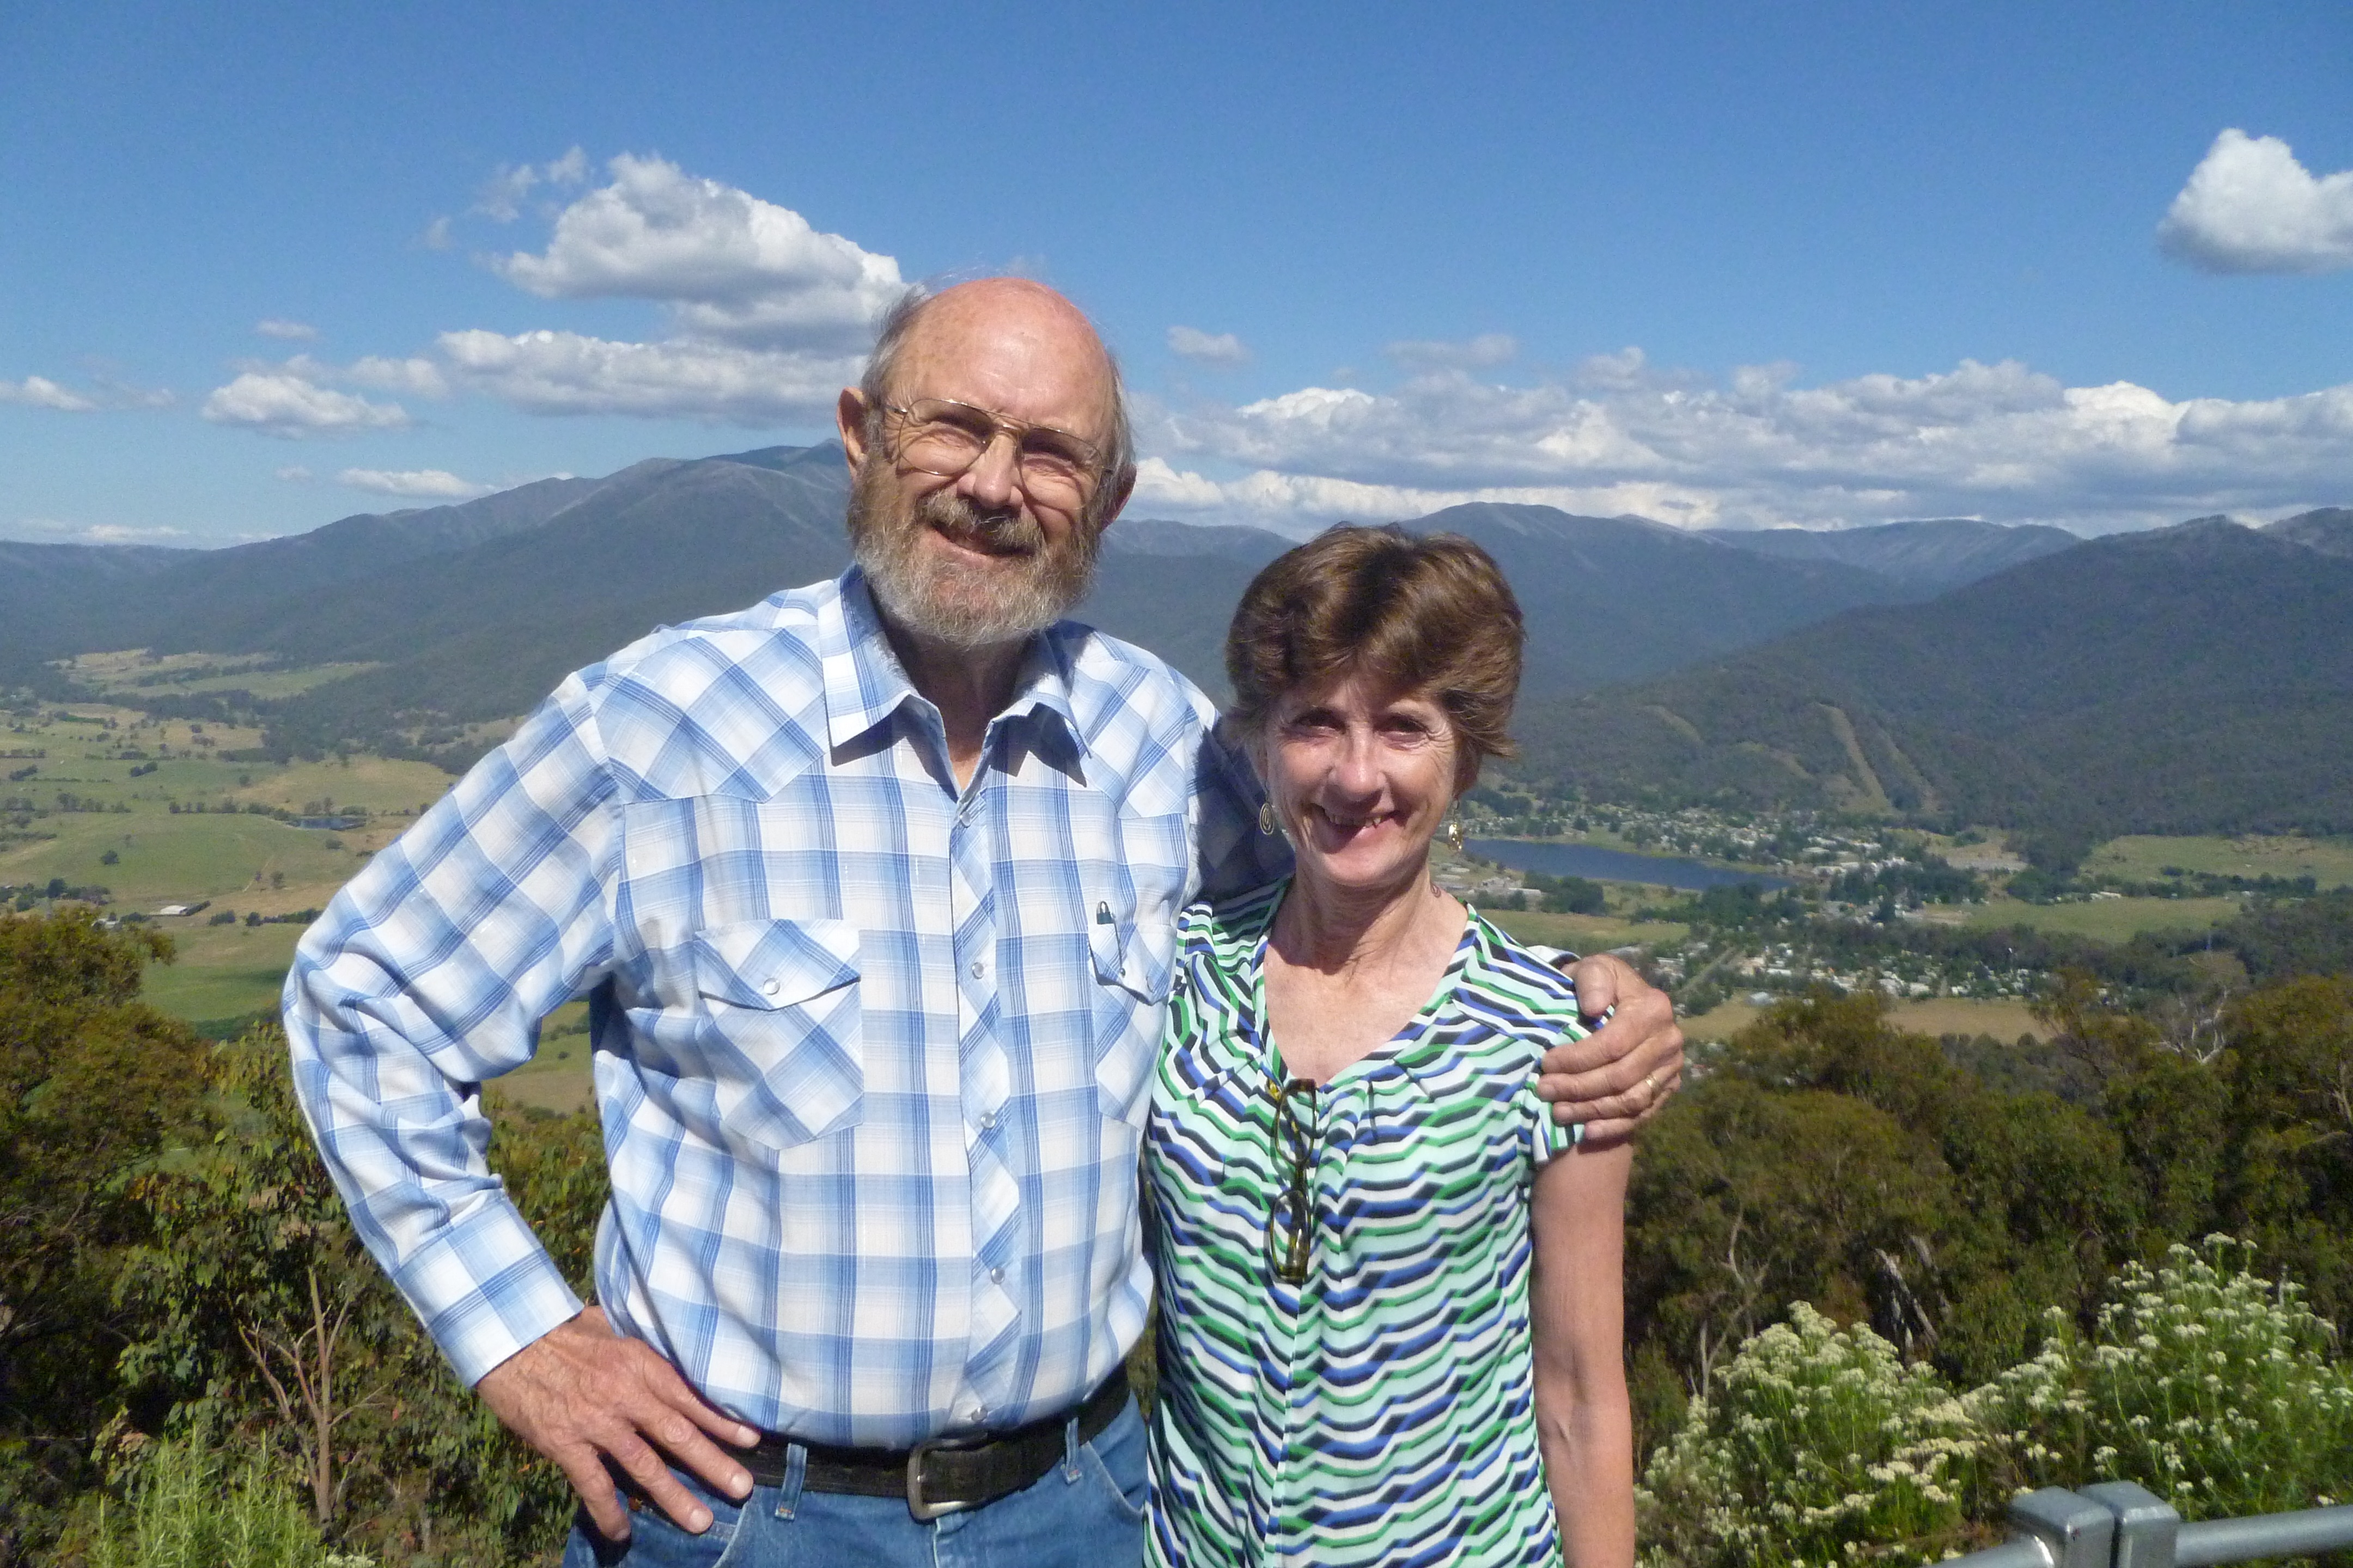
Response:
MULTIPOLYGON (((838 444, 767 447, 231 550, 0 543, 0 677, 54 686, 45 661, 129 646, 360 663, 268 705, 278 743, 456 764, 468 726, 645 630, 838 574, 845 498, 838 444)), ((1480 541, 1520 595, 1527 773, 1988 823, 2353 825, 2322 778, 2353 736, 2353 510, 2089 543, 1501 503, 1407 527, 1480 541)), ((1289 543, 1122 520, 1078 616, 1224 691, 1233 604, 1289 543)))

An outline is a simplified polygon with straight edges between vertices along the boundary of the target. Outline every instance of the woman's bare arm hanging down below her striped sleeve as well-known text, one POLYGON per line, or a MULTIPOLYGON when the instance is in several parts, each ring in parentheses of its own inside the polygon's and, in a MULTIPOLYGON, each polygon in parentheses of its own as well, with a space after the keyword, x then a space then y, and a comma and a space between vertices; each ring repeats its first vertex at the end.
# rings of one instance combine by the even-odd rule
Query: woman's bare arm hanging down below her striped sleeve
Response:
POLYGON ((1626 1408, 1626 1173, 1633 1145, 1579 1145, 1537 1173, 1529 1321, 1537 1439, 1572 1568, 1633 1563, 1626 1408))

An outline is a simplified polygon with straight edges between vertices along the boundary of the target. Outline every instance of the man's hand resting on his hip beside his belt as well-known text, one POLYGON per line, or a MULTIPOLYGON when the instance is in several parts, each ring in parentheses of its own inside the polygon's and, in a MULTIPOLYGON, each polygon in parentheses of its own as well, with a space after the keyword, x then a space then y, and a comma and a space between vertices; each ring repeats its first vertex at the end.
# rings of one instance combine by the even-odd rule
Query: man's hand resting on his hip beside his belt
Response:
POLYGON ((708 1530, 711 1509, 661 1453, 729 1497, 751 1493, 751 1472, 711 1439, 748 1448, 760 1434, 706 1406, 649 1345, 616 1335, 602 1307, 525 1345, 473 1387, 515 1436, 562 1467, 605 1540, 628 1535, 607 1458, 682 1530, 708 1530))

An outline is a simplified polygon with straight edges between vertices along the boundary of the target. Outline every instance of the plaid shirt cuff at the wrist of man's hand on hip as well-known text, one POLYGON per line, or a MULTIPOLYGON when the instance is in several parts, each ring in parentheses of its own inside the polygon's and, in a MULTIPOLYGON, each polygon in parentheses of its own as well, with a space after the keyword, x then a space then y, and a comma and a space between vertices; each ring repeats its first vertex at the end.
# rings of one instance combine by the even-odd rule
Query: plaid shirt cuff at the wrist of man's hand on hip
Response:
POLYGON ((581 1298, 504 1192, 487 1194, 402 1262, 393 1284, 466 1387, 581 1312, 581 1298))

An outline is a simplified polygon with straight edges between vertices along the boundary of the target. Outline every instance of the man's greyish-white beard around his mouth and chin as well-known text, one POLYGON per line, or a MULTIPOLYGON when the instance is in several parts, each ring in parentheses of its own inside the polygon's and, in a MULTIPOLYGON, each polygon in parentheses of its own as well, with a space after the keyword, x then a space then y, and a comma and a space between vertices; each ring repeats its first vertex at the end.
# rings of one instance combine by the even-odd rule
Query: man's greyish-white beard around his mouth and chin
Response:
POLYGON ((896 625, 953 649, 1021 642, 1087 597, 1101 534, 1075 520, 1059 548, 1021 512, 984 515, 953 489, 899 505, 896 470, 880 454, 849 491, 849 552, 875 604, 896 625), (1012 548, 974 564, 927 548, 925 534, 958 543, 1012 548))

